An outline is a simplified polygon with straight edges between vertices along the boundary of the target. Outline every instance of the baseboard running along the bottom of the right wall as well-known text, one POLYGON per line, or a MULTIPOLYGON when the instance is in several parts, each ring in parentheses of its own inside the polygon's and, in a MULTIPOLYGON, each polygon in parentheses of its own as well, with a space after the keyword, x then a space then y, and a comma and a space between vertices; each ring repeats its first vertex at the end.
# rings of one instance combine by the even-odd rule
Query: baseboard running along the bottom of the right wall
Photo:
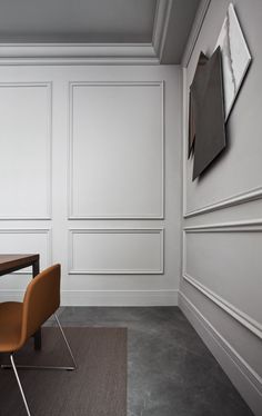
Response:
POLYGON ((262 379, 258 373, 181 291, 178 304, 253 413, 262 415, 262 379))

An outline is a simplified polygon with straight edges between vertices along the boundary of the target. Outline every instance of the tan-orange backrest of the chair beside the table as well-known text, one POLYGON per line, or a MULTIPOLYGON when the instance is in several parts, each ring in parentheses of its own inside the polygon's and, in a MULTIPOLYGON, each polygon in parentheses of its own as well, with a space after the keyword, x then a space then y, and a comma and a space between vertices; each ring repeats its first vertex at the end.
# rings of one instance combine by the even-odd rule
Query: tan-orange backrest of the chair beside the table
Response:
POLYGON ((23 298, 21 341, 27 341, 59 308, 61 266, 41 271, 28 285, 23 298))

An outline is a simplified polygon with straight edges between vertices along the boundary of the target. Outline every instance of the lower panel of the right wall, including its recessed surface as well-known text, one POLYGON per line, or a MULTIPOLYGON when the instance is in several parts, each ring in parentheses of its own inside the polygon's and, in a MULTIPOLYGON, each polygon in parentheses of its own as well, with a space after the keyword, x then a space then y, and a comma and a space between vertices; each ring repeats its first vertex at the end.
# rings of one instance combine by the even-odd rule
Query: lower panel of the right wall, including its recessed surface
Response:
POLYGON ((183 271, 193 286, 242 324, 251 324, 260 331, 261 245, 262 228, 189 229, 183 271))

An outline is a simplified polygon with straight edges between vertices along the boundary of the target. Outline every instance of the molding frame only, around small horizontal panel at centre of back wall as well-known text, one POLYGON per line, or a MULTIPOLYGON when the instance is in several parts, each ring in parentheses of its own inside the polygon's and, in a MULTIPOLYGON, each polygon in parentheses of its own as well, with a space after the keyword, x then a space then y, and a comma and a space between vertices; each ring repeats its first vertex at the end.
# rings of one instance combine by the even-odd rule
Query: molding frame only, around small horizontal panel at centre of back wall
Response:
POLYGON ((69 275, 162 275, 164 273, 164 229, 163 228, 71 228, 69 230, 69 275), (73 244, 74 235, 158 235, 160 252, 160 267, 152 269, 139 268, 75 268, 74 257, 75 247, 73 244))

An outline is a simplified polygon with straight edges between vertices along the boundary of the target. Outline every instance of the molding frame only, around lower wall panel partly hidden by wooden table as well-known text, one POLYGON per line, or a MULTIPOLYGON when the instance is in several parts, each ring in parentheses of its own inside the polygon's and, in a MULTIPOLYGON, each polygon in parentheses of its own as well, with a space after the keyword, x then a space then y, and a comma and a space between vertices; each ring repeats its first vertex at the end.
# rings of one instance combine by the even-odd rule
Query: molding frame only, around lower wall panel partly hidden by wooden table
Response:
MULTIPOLYGON (((46 252, 47 252, 47 263, 48 265, 51 265, 52 263, 52 230, 51 228, 1 228, 0 229, 0 236, 1 235, 46 235, 46 252)), ((4 254, 1 250, 2 254, 4 254)), ((33 251, 37 252, 37 251, 33 251)), ((7 252, 8 254, 8 252, 7 252)), ((23 251, 20 251, 20 254, 27 254, 23 251)), ((40 256, 40 266, 41 266, 41 256, 40 256)), ((28 275, 29 271, 27 271, 28 268, 14 271, 14 275, 28 275)), ((31 274, 31 271, 30 271, 31 274)))

